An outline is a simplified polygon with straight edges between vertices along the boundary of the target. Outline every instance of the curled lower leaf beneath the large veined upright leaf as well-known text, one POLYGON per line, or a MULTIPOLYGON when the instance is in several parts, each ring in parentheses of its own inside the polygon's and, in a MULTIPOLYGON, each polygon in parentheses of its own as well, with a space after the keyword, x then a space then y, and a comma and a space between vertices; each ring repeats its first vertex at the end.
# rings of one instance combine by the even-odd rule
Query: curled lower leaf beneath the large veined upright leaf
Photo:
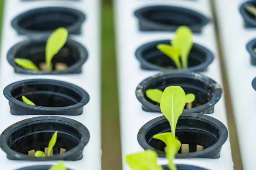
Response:
POLYGON ((179 140, 177 140, 177 137, 173 137, 173 133, 171 132, 165 132, 165 133, 159 133, 153 136, 154 139, 159 139, 163 141, 167 146, 167 152, 166 157, 169 161, 168 167, 171 170, 177 170, 176 165, 173 163, 173 160, 175 159, 175 155, 180 150, 181 143, 179 140))

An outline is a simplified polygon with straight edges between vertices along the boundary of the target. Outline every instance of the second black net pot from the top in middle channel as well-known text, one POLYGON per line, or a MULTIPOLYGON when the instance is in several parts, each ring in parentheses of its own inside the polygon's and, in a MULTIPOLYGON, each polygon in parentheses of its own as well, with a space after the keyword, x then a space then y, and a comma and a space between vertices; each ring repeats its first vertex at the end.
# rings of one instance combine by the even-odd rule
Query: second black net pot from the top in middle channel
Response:
POLYGON ((135 56, 140 62, 140 68, 143 70, 165 72, 207 71, 208 66, 214 59, 211 51, 193 43, 189 53, 188 68, 178 70, 172 59, 157 49, 158 44, 170 44, 170 40, 148 42, 136 50, 135 56))

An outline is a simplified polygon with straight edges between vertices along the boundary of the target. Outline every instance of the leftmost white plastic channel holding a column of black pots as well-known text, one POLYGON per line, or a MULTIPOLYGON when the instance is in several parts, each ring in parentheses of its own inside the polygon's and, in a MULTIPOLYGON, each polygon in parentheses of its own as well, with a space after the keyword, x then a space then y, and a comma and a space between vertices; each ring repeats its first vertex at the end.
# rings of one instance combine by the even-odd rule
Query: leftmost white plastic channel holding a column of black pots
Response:
MULTIPOLYGON (((1 46, 1 65, 0 65, 0 91, 12 82, 23 79, 47 78, 57 79, 73 83, 83 88, 90 95, 89 103, 84 106, 84 112, 79 116, 64 116, 77 120, 84 124, 90 132, 89 143, 84 147, 83 158, 79 161, 64 161, 66 167, 72 170, 101 170, 101 98, 100 98, 100 32, 99 32, 99 0, 80 0, 80 1, 60 1, 60 0, 6 0, 3 21, 3 36, 1 46), (84 45, 89 53, 87 61, 82 67, 82 74, 70 75, 44 75, 32 76, 15 74, 11 65, 7 62, 6 54, 9 48, 17 42, 26 40, 26 36, 17 35, 11 26, 12 19, 21 12, 41 8, 45 6, 64 6, 78 9, 86 14, 86 20, 82 25, 82 34, 72 36, 73 40, 84 45)), ((0 95, 0 132, 10 125, 23 119, 34 116, 13 116, 10 114, 8 100, 0 95)), ((38 116, 38 115, 37 115, 38 116)), ((57 164, 58 161, 36 162, 36 161, 12 161, 7 159, 6 153, 0 150, 0 169, 16 170, 21 167, 57 164)))

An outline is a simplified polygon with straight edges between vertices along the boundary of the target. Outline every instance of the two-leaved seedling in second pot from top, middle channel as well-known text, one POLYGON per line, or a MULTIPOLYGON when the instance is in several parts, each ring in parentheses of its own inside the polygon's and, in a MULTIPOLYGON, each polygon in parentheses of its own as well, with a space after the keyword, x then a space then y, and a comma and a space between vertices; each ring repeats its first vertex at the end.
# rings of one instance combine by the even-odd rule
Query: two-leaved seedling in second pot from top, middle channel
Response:
POLYGON ((170 45, 158 44, 157 49, 170 57, 177 69, 186 69, 192 46, 192 31, 186 26, 180 26, 177 28, 175 39, 171 41, 170 45))

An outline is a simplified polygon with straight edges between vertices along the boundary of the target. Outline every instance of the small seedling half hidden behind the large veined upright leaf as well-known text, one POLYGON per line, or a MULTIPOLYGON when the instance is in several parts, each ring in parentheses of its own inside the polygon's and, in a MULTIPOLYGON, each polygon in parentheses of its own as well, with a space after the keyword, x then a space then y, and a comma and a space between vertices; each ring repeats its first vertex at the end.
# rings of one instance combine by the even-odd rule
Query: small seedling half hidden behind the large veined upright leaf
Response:
MULTIPOLYGON (((146 96, 154 102, 160 103, 161 97, 163 95, 163 91, 154 88, 146 90, 146 96)), ((192 102, 195 101, 195 94, 189 93, 186 94, 186 108, 192 108, 192 102)))

